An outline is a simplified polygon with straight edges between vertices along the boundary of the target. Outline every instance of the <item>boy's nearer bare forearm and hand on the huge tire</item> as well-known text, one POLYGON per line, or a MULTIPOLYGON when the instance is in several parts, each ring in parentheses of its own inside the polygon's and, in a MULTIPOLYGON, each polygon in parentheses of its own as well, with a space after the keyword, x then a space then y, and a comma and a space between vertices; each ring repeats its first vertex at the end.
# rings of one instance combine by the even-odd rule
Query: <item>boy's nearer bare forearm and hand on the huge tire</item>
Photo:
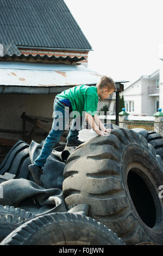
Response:
POLYGON ((108 135, 108 133, 106 133, 104 130, 105 130, 105 127, 103 126, 103 124, 101 123, 101 121, 99 120, 99 118, 95 118, 95 117, 92 117, 92 115, 90 115, 89 113, 85 113, 85 119, 86 121, 89 123, 89 125, 92 127, 92 129, 98 134, 98 135, 108 135), (96 124, 96 121, 97 121, 97 124, 96 124), (101 128, 99 127, 99 125, 101 125, 99 123, 102 124, 101 127, 103 127, 103 130, 100 130, 101 128))

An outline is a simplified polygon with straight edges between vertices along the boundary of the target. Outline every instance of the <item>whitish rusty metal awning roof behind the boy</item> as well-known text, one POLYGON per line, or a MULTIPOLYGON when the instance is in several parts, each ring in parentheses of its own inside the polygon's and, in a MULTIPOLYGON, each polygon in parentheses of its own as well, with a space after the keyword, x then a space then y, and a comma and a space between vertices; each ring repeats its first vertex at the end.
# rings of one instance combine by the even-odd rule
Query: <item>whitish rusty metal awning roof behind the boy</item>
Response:
POLYGON ((49 94, 96 84, 102 74, 82 65, 0 62, 0 77, 0 93, 49 94))

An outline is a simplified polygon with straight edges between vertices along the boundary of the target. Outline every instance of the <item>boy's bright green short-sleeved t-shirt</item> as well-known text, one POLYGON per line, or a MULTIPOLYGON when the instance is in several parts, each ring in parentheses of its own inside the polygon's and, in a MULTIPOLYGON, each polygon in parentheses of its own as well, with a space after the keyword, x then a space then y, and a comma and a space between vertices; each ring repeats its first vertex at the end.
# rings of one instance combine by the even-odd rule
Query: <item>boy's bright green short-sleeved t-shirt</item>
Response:
POLYGON ((97 112, 98 94, 95 86, 75 86, 57 94, 56 97, 70 100, 72 111, 78 111, 80 115, 83 111, 92 116, 97 112))

